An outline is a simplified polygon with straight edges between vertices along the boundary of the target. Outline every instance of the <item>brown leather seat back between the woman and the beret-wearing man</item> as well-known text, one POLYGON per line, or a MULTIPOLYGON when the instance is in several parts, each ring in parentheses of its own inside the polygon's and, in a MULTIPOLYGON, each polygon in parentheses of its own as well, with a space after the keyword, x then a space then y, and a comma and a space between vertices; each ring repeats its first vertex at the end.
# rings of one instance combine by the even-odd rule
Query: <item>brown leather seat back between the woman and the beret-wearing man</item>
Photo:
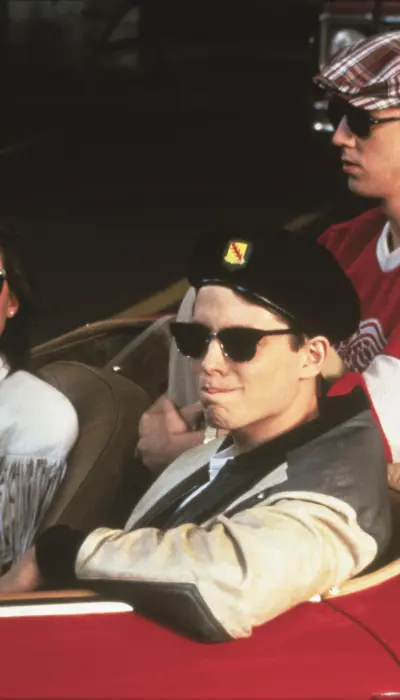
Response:
POLYGON ((122 527, 150 479, 134 456, 148 396, 129 379, 78 362, 55 362, 40 376, 70 399, 79 418, 66 476, 40 530, 55 523, 122 527))

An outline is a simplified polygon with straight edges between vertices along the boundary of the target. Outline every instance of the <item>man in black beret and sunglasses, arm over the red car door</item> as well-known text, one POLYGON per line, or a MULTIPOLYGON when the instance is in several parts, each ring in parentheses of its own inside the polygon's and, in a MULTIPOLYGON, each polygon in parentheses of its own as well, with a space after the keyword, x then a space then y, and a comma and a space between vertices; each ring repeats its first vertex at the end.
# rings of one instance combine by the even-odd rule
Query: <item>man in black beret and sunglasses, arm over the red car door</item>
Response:
POLYGON ((329 396, 329 343, 359 302, 333 256, 287 231, 216 232, 195 246, 193 321, 172 325, 207 422, 227 437, 181 455, 125 529, 56 526, 0 592, 75 579, 203 641, 251 634, 360 573, 386 548, 380 431, 360 388, 329 396))

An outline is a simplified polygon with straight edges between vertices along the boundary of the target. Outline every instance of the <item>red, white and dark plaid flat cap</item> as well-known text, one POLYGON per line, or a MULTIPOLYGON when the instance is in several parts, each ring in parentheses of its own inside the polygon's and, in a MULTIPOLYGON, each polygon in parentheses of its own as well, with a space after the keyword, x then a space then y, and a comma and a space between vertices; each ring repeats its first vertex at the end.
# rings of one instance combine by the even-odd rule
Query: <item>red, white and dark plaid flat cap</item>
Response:
POLYGON ((314 82, 355 107, 399 107, 400 32, 357 41, 335 56, 314 82))

